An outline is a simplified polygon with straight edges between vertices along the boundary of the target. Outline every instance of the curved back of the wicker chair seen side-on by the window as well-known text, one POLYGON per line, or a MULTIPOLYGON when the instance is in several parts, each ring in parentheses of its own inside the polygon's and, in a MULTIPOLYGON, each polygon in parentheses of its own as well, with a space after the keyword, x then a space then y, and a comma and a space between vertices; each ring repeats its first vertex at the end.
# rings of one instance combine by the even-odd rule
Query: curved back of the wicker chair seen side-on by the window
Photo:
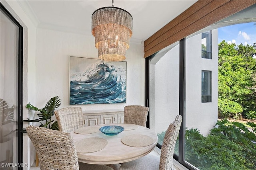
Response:
POLYGON ((172 159, 174 154, 174 148, 175 148, 176 140, 180 131, 181 123, 182 123, 182 116, 177 115, 174 122, 172 122, 169 125, 164 135, 164 141, 161 148, 159 170, 172 169, 172 159))

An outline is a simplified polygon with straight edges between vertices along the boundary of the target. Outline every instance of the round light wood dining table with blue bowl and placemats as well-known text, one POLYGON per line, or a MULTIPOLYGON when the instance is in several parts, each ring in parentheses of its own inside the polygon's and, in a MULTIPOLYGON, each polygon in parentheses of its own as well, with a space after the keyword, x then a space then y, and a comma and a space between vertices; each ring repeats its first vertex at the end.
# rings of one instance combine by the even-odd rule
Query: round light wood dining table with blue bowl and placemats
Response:
MULTIPOLYGON (((146 127, 140 126, 140 125, 134 125, 134 124, 123 124, 123 123, 112 123, 112 124, 100 124, 100 125, 94 125, 88 126, 88 127, 82 127, 82 130, 86 133, 86 128, 88 130, 91 130, 92 128, 95 128, 96 131, 89 132, 89 134, 79 134, 75 131, 70 132, 74 143, 81 142, 82 140, 90 139, 90 138, 100 138, 104 141, 106 141, 106 146, 103 149, 93 151, 93 152, 79 152, 77 150, 77 156, 79 162, 84 162, 87 164, 104 164, 104 165, 114 165, 114 164, 120 164, 124 162, 128 162, 131 160, 138 159, 148 153, 150 153, 154 148, 156 147, 156 144, 158 143, 158 137, 156 133, 148 129, 146 127), (123 126, 124 131, 119 133, 118 135, 105 135, 102 133, 99 129, 103 126, 108 125, 118 125, 123 126), (129 128, 130 125, 130 128, 129 128), (150 138, 150 140, 144 140, 144 142, 152 141, 150 143, 147 143, 147 146, 129 146, 124 144, 121 141, 122 139, 129 139, 130 137, 133 137, 133 135, 137 135, 137 137, 146 136, 150 138)), ((81 129, 81 128, 80 128, 81 129)), ((79 129, 78 129, 79 130, 79 129)), ((135 141, 136 142, 136 141, 135 141)), ((142 142, 142 141, 141 141, 142 142)), ((94 143, 91 143, 92 147, 94 143)), ((90 149, 89 149, 90 150, 90 149)), ((119 167, 118 167, 119 168, 119 167)), ((114 169, 118 169, 114 168, 114 169)))

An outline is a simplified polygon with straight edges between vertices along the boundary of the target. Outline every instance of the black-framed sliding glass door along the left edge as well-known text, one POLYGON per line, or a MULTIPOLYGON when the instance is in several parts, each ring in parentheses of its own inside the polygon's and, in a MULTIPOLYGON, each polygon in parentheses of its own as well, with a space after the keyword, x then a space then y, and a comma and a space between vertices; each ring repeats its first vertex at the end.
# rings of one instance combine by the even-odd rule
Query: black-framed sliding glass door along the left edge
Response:
POLYGON ((14 169, 22 166, 22 27, 2 4, 0 16, 1 169, 14 169))

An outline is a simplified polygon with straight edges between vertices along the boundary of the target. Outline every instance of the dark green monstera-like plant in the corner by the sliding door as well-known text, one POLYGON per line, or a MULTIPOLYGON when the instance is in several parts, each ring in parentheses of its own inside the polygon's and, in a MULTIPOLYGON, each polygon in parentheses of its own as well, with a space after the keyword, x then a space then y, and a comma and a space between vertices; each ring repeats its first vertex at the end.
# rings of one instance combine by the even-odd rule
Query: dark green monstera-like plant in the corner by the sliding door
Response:
MULTIPOLYGON (((32 109, 34 111, 40 111, 38 113, 38 119, 28 119, 28 120, 23 120, 25 122, 40 122, 40 127, 45 127, 48 129, 54 129, 58 130, 58 122, 52 120, 52 116, 54 115, 55 109, 57 109, 60 106, 60 98, 58 96, 55 96, 47 102, 46 106, 42 109, 38 109, 37 107, 33 106, 32 104, 28 103, 26 107, 28 109, 32 109), (54 122, 54 123, 52 123, 54 122)), ((26 133, 26 129, 23 129, 23 132, 26 133)))

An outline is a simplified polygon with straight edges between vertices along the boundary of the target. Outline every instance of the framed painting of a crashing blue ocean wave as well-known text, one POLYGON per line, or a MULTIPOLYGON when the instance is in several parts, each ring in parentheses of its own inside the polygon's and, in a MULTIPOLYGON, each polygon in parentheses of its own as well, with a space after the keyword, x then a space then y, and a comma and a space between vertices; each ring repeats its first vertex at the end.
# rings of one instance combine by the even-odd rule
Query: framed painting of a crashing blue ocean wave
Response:
POLYGON ((70 57, 70 105, 126 103, 126 62, 70 57))

